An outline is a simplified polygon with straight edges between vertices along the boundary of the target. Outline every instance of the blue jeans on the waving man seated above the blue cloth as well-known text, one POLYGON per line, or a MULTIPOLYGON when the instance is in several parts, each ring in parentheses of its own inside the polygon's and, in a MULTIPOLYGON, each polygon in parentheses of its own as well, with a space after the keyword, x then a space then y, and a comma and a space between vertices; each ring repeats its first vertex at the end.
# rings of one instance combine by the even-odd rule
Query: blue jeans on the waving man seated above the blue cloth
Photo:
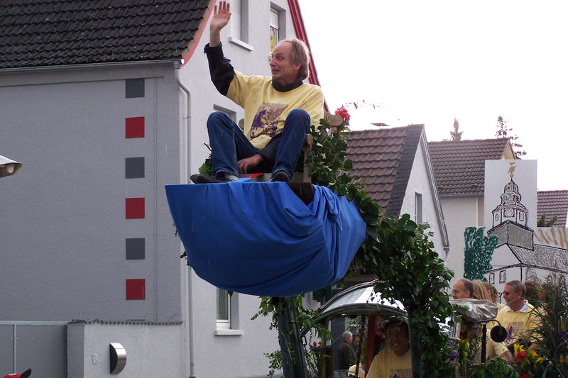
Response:
MULTIPOLYGON (((292 177, 302 152, 305 135, 310 132, 310 116, 302 109, 290 111, 284 121, 280 144, 274 162, 266 158, 250 173, 284 171, 292 177)), ((225 113, 216 111, 207 119, 207 133, 212 150, 212 170, 216 176, 219 172, 239 175, 237 162, 258 153, 243 131, 225 113)))

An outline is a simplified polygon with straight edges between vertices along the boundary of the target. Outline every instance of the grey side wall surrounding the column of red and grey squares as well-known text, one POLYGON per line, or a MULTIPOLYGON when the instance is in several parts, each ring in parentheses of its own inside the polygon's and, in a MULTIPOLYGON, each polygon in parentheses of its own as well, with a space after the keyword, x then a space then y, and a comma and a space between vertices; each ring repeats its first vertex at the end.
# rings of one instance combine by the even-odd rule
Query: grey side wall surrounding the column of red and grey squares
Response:
POLYGON ((3 319, 181 320, 163 189, 179 181, 174 84, 171 65, 2 75, 0 150, 25 167, 2 180, 3 319), (135 78, 145 95, 126 98, 135 78), (145 118, 144 138, 125 138, 129 117, 145 118), (145 177, 125 178, 127 157, 144 157, 145 177), (131 197, 145 218, 125 218, 131 197), (144 238, 146 257, 126 260, 126 238, 144 238), (126 301, 126 279, 146 280, 145 300, 126 301))

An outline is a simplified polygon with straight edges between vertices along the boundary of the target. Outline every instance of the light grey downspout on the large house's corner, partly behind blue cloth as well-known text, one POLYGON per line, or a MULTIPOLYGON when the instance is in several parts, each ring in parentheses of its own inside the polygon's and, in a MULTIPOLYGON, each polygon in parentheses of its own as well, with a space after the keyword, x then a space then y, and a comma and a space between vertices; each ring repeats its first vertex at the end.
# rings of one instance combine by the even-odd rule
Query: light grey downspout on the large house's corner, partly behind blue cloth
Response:
MULTIPOLYGON (((182 184, 187 184, 187 172, 191 169, 191 92, 180 78, 180 62, 174 62, 175 81, 182 91, 185 91, 187 103, 185 104, 185 151, 181 155, 186 157, 185 169, 181 172, 180 180, 182 184)), ((182 165, 183 166, 183 165, 182 165)), ((187 269, 187 328, 189 330, 188 341, 190 348, 190 378, 195 378, 195 356, 194 356, 194 340, 193 340, 193 274, 191 267, 187 269)))

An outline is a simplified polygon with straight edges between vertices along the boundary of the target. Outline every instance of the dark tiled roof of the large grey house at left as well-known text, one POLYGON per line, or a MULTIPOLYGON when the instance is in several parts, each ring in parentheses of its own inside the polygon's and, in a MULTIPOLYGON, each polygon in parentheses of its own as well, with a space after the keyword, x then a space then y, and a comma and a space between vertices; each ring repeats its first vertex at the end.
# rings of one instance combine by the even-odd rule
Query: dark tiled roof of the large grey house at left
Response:
POLYGON ((1 2, 0 68, 180 59, 209 2, 1 2))

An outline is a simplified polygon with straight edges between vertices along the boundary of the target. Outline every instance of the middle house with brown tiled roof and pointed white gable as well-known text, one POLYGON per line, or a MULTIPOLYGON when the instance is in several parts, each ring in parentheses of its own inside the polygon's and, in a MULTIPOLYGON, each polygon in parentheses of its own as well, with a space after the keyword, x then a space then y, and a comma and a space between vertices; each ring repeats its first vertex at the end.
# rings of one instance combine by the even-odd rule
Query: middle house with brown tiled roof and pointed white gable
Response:
POLYGON ((408 213, 417 223, 429 223, 438 255, 445 259, 450 243, 424 125, 351 131, 347 144, 364 191, 385 213, 408 213))

